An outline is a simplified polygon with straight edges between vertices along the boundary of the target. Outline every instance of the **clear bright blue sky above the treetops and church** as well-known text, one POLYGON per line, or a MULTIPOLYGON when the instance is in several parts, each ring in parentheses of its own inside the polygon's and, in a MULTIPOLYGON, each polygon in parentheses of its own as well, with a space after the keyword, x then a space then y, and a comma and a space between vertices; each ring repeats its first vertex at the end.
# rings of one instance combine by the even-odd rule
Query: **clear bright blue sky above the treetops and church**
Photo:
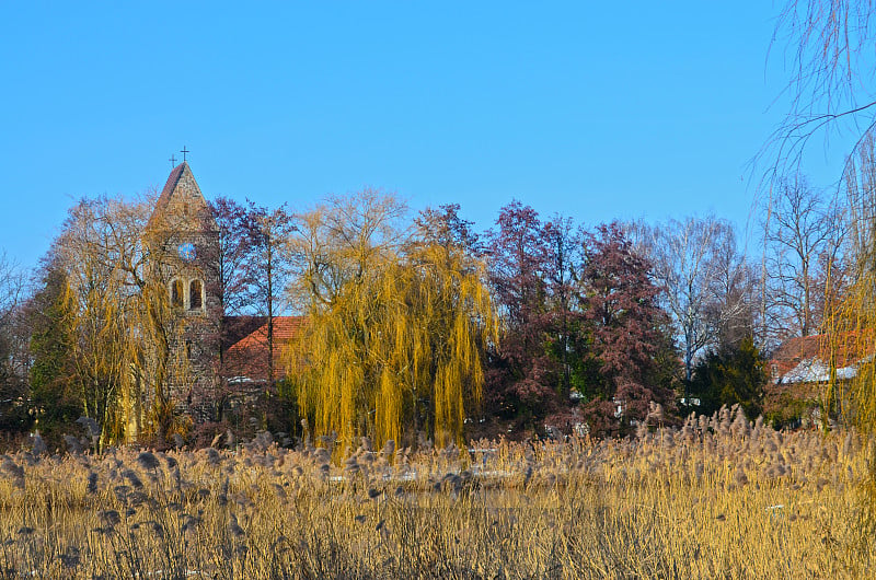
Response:
POLYGON ((780 8, 4 3, 0 248, 35 265, 78 198, 160 187, 183 146, 208 198, 306 209, 371 186, 458 202, 480 230, 515 198, 744 230, 747 163, 786 109, 780 8))

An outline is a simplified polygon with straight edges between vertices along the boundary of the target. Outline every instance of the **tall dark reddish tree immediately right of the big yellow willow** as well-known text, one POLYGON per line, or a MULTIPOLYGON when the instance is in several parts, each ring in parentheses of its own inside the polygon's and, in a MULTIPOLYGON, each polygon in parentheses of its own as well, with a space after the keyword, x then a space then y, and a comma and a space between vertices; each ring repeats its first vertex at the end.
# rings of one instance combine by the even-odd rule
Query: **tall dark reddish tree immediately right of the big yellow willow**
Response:
POLYGON ((580 303, 574 291, 581 262, 572 220, 543 222, 512 201, 487 232, 491 289, 503 315, 502 345, 492 352, 488 410, 516 427, 541 430, 579 422, 569 405, 580 392, 580 303))

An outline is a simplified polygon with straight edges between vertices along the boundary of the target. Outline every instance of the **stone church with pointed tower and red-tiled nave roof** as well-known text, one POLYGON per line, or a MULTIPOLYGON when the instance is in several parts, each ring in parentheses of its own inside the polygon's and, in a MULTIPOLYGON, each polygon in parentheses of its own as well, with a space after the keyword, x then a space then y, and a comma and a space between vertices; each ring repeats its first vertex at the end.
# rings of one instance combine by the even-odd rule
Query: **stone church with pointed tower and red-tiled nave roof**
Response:
MULTIPOLYGON (((170 312, 166 327, 166 393, 177 413, 194 422, 216 420, 222 407, 269 386, 267 320, 226 316, 221 300, 220 232, 192 169, 173 169, 146 228, 150 276, 161 280, 170 312)), ((300 327, 297 316, 274 317, 278 345, 300 327)), ((139 430, 139 429, 138 429, 139 430)))

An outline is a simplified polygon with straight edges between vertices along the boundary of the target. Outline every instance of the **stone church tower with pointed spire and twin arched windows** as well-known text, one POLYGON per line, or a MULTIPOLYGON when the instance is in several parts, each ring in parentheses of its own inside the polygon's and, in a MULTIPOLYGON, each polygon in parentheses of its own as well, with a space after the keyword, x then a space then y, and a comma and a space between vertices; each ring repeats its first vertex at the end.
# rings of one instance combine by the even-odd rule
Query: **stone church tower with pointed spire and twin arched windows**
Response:
POLYGON ((166 394, 198 420, 211 403, 222 317, 219 228, 187 162, 175 166, 146 228, 148 276, 166 292, 160 325, 166 349, 157 355, 166 394), (161 359, 160 357, 163 357, 161 359))

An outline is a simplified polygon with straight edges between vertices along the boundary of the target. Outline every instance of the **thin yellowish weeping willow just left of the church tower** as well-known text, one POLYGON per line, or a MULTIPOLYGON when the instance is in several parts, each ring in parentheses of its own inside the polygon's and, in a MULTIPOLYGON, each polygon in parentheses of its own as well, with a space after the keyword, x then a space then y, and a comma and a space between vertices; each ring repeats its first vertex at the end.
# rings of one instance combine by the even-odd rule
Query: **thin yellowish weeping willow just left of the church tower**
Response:
POLYGON ((55 242, 67 280, 73 381, 82 413, 102 426, 104 442, 150 432, 163 439, 175 421, 168 379, 185 378, 188 369, 170 348, 184 332, 162 268, 172 245, 154 234, 145 243, 152 206, 148 199, 83 199, 55 242))

